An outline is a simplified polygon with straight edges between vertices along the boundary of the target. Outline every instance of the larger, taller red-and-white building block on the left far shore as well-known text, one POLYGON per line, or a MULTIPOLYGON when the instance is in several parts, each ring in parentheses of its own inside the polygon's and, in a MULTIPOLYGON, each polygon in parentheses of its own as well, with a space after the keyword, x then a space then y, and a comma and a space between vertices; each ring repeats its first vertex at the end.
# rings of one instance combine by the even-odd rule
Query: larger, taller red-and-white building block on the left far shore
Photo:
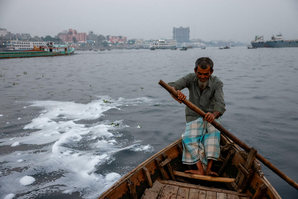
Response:
POLYGON ((58 33, 59 39, 61 39, 64 43, 85 43, 87 41, 86 33, 77 33, 77 30, 69 29, 63 30, 62 33, 58 33))

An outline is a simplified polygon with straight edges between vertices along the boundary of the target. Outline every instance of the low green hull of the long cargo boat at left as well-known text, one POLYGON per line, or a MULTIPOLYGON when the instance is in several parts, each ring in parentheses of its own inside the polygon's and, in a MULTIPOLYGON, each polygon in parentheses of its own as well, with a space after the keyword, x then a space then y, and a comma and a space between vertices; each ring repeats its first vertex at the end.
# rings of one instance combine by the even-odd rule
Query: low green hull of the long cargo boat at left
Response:
POLYGON ((22 58, 22 57, 44 57, 44 56, 59 56, 69 55, 75 51, 71 48, 67 51, 47 52, 47 51, 18 51, 18 52, 0 52, 0 58, 22 58))

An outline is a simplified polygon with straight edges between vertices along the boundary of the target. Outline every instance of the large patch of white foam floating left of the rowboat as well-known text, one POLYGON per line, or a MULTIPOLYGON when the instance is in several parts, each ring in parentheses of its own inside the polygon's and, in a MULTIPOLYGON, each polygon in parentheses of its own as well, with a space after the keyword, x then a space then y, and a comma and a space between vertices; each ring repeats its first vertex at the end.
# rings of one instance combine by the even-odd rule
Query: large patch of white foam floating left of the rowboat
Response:
POLYGON ((31 130, 30 133, 23 137, 0 139, 0 145, 18 146, 21 143, 44 146, 38 149, 42 151, 38 153, 32 149, 3 155, 10 161, 6 163, 7 168, 25 169, 21 172, 4 170, 7 175, 1 176, 0 181, 7 183, 0 187, 0 198, 1 194, 18 194, 44 187, 40 191, 42 194, 45 189, 50 189, 49 186, 56 184, 65 185, 59 186, 60 192, 71 194, 78 191, 83 198, 97 198, 121 178, 121 175, 115 172, 97 173, 101 165, 110 164, 115 160, 115 155, 123 150, 152 152, 154 149, 149 144, 142 145, 138 140, 122 140, 125 135, 119 134, 118 130, 129 128, 125 120, 94 120, 104 116, 104 112, 109 109, 121 110, 121 106, 136 106, 151 101, 148 98, 113 100, 108 96, 99 96, 98 100, 89 104, 32 101, 30 107, 41 107, 42 110, 38 117, 23 127, 24 131, 31 130), (47 180, 42 182, 36 178, 35 183, 30 186, 20 186, 21 181, 15 181, 21 178, 22 184, 29 185, 34 182, 31 176, 53 172, 61 173, 62 176, 54 180, 47 176, 44 178, 47 180), (24 175, 28 177, 25 178, 24 175))

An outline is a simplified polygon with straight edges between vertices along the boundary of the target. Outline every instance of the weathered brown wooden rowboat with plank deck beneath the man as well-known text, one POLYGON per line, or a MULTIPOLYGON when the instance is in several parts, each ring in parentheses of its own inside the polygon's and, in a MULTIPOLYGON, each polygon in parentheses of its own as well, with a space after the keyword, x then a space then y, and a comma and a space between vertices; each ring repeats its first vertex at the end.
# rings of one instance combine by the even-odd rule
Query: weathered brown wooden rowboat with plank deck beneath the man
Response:
POLYGON ((247 153, 223 134, 220 145, 220 158, 212 166, 219 177, 184 173, 190 166, 181 162, 180 138, 122 177, 98 199, 281 198, 264 177, 255 149, 247 153))

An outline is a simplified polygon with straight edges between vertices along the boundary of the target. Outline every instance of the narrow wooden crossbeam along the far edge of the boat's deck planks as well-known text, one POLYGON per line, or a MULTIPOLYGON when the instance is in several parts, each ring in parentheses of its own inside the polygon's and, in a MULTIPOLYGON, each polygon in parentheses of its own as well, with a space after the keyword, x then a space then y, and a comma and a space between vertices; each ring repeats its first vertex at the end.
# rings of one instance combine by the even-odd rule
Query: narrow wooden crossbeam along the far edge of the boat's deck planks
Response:
POLYGON ((195 185, 195 184, 188 184, 188 183, 183 183, 183 182, 176 182, 176 181, 170 181, 170 180, 159 180, 159 182, 162 183, 162 184, 176 185, 176 186, 179 186, 179 187, 186 187, 186 188, 189 188, 189 189, 200 189, 200 190, 204 190, 204 191, 222 192, 222 193, 226 193, 226 194, 229 193, 229 194, 245 196, 245 197, 250 196, 247 193, 238 193, 238 192, 234 192, 234 191, 211 188, 211 187, 200 186, 200 185, 195 185))

